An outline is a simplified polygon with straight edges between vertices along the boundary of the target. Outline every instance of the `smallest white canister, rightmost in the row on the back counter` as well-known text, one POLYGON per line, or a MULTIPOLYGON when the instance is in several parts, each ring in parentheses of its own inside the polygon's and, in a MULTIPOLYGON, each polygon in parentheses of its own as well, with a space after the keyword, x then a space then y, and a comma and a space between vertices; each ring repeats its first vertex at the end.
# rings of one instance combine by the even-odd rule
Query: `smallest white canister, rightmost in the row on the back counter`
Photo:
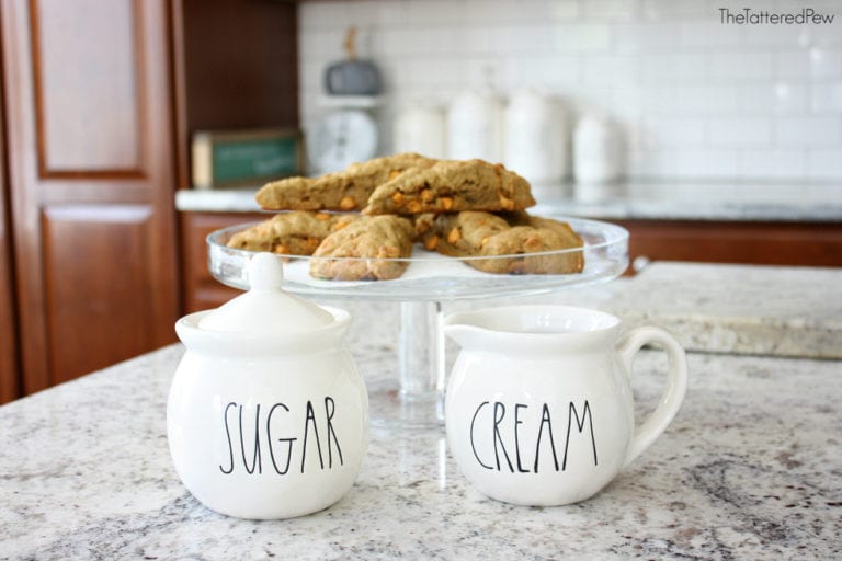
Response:
POLYGON ((576 182, 615 182, 623 173, 623 142, 616 124, 598 114, 579 117, 573 133, 576 182))

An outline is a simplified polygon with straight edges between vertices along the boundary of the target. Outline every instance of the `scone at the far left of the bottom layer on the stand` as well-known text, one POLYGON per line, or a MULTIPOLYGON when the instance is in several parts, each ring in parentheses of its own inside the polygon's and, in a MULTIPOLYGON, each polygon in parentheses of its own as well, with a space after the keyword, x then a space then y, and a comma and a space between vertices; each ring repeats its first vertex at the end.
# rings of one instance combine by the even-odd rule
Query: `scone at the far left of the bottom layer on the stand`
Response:
POLYGON ((332 232, 359 220, 360 215, 282 213, 231 236, 227 245, 250 251, 310 255, 332 232))

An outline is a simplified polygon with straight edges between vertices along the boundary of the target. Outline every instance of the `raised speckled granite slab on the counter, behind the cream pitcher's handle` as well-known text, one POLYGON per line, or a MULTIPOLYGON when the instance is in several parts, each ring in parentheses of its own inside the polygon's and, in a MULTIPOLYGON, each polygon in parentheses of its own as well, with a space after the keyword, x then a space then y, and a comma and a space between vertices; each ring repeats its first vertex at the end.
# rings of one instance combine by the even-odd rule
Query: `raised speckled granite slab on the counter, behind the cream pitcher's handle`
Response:
POLYGON ((692 351, 842 358, 840 287, 842 268, 660 262, 634 278, 543 301, 658 325, 692 351))

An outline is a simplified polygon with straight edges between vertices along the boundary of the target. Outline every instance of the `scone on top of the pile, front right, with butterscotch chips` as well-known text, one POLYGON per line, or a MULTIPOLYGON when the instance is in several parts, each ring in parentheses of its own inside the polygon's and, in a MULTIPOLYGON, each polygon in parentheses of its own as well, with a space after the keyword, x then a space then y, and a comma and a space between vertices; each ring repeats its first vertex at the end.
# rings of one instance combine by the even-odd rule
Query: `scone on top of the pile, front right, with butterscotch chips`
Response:
POLYGON ((433 165, 409 168, 375 188, 363 213, 521 210, 534 204, 530 183, 500 163, 441 160, 433 165))

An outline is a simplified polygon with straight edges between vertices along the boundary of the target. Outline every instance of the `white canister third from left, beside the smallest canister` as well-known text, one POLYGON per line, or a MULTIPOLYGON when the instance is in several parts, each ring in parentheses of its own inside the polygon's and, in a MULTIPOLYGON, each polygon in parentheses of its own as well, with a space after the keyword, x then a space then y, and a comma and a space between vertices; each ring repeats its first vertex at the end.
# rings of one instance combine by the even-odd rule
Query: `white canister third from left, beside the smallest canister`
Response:
POLYGON ((568 174, 569 142, 561 103, 535 90, 521 90, 505 110, 504 162, 532 183, 560 183, 568 174))

